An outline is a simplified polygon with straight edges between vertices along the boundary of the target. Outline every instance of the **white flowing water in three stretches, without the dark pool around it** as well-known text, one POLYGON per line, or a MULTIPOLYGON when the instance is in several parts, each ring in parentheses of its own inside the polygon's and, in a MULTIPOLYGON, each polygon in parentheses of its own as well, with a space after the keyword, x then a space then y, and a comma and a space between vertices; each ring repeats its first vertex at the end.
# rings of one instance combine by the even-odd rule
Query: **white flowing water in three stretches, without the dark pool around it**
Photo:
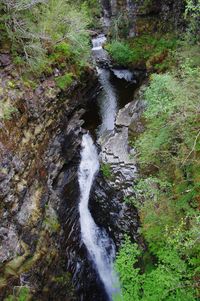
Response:
MULTIPOLYGON (((93 41, 93 53, 96 52, 105 58, 106 53, 102 49, 105 37, 102 35, 93 41)), ((98 136, 107 130, 114 129, 115 115, 117 112, 116 91, 112 87, 109 78, 110 71, 98 68, 99 81, 102 86, 98 103, 100 107, 101 125, 98 136)), ((120 292, 118 277, 113 269, 115 258, 115 245, 104 229, 100 229, 89 211, 88 203, 90 191, 99 171, 99 158, 96 146, 89 133, 83 135, 81 162, 79 166, 79 188, 80 188, 80 225, 81 237, 87 248, 89 259, 103 283, 108 300, 112 301, 113 295, 120 292)))

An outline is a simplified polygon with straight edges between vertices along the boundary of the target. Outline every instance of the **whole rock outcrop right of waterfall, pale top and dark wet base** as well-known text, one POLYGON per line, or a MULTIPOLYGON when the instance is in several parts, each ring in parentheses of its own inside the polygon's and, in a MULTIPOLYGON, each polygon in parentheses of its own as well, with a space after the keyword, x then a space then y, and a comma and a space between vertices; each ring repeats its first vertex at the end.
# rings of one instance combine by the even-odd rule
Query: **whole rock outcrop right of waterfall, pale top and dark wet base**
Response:
POLYGON ((133 194, 136 178, 134 150, 129 146, 129 127, 140 123, 144 102, 138 98, 119 110, 115 129, 103 134, 99 139, 101 163, 109 165, 111 177, 100 172, 93 184, 89 207, 98 226, 106 229, 117 249, 124 234, 143 245, 138 233, 137 210, 124 201, 133 194))

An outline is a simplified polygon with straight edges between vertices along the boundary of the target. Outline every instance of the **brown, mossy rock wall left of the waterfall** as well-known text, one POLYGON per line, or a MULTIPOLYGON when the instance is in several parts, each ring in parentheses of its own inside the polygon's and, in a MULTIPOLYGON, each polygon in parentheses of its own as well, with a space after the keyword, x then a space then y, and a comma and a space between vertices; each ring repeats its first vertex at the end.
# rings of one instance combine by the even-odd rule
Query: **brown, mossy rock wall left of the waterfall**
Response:
POLYGON ((11 65, 0 81, 1 101, 16 108, 0 119, 0 299, 28 286, 33 300, 74 300, 72 282, 84 290, 83 275, 95 279, 79 237, 76 180, 79 108, 93 97, 95 78, 59 97, 54 81, 31 88, 11 65))

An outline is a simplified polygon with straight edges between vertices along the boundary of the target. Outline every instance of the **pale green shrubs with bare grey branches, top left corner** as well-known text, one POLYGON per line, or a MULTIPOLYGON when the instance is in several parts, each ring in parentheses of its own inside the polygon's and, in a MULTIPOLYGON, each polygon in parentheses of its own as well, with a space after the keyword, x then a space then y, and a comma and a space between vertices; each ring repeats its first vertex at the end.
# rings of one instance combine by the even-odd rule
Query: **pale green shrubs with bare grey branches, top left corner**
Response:
POLYGON ((86 9, 67 0, 3 0, 0 11, 1 42, 11 45, 14 62, 23 70, 28 67, 40 75, 59 60, 66 69, 74 65, 75 73, 87 65, 90 17, 86 9))

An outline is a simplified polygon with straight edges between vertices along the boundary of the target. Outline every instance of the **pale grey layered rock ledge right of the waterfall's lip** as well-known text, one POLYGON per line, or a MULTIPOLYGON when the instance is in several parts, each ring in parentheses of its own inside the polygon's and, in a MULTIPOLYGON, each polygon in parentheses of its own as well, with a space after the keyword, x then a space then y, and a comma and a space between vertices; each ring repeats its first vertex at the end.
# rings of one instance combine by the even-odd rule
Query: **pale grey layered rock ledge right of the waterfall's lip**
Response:
POLYGON ((141 100, 128 103, 119 110, 114 131, 104 134, 98 140, 101 162, 109 166, 112 174, 108 183, 115 190, 120 190, 123 197, 133 194, 132 185, 137 176, 135 152, 129 145, 129 126, 140 120, 142 110, 141 100))

